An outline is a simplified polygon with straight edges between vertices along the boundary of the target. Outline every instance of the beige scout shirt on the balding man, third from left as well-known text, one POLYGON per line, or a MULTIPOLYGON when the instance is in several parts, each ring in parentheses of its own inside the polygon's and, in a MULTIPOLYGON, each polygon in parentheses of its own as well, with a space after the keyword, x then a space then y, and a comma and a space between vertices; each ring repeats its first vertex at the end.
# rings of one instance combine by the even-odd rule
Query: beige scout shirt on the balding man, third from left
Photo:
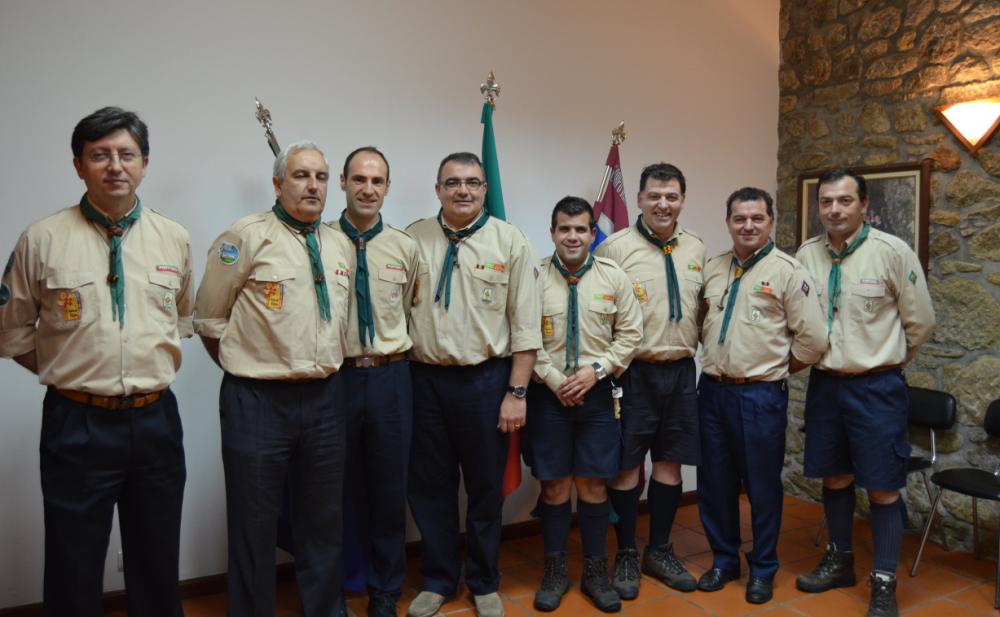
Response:
MULTIPOLYGON (((340 221, 327 223, 341 231, 340 221)), ((348 266, 357 272, 357 249, 352 246, 348 266)), ((382 224, 378 233, 365 247, 368 258, 368 288, 371 292, 372 319, 375 320, 375 342, 365 337, 361 346, 358 336, 358 303, 354 293, 354 277, 351 277, 350 314, 347 318, 347 357, 364 355, 388 356, 402 353, 413 346, 406 331, 413 302, 413 288, 417 281, 420 257, 417 243, 406 232, 382 224)))

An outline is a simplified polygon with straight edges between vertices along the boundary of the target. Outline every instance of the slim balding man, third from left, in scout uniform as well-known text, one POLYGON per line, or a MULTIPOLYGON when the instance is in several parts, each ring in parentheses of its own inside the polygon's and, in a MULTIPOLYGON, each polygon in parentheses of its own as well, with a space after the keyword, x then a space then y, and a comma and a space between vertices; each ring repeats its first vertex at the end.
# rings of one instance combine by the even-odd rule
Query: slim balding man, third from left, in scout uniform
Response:
POLYGON ((377 148, 347 155, 340 188, 347 208, 334 229, 355 246, 347 358, 338 388, 347 418, 344 474, 346 579, 368 587, 369 617, 395 617, 406 575, 406 474, 413 394, 406 332, 417 280, 417 244, 382 220, 389 163, 377 148), (347 559, 349 549, 362 556, 347 559), (354 565, 355 562, 357 565, 354 565), (352 572, 354 570, 361 570, 352 572))

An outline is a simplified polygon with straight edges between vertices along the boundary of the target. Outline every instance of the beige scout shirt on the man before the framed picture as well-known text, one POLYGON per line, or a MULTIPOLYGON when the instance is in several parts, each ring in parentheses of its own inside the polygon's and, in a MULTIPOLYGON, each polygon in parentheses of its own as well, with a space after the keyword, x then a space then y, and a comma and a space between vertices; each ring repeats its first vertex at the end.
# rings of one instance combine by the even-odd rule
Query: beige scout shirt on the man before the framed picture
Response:
MULTIPOLYGON (((847 239, 850 246, 861 230, 847 239)), ((816 281, 824 314, 830 308, 826 285, 833 262, 829 239, 810 238, 796 257, 816 281)), ((934 307, 916 253, 905 242, 875 228, 840 264, 840 306, 833 318, 830 349, 821 369, 862 373, 902 364, 934 329, 934 307)))

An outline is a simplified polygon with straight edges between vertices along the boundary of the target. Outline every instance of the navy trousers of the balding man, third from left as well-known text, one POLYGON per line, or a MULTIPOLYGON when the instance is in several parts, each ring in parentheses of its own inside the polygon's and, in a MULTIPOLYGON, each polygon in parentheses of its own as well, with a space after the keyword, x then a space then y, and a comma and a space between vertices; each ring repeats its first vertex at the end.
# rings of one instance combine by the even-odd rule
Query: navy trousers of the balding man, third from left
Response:
POLYGON ((406 575, 406 479, 413 433, 413 391, 405 360, 373 368, 344 367, 347 419, 344 547, 356 546, 369 593, 399 596, 406 575), (350 528, 348 521, 351 521, 350 528))

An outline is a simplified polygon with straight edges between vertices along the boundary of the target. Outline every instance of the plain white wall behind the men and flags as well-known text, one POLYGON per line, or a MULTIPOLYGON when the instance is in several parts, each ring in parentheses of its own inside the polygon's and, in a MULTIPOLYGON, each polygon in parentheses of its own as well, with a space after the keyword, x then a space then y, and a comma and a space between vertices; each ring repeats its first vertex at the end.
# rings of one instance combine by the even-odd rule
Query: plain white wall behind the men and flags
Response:
MULTIPOLYGON (((355 146, 383 149, 393 180, 384 214, 404 226, 436 211, 441 157, 479 150, 478 87, 491 68, 503 88, 495 122, 508 217, 540 255, 551 251, 556 200, 595 197, 619 120, 632 211, 641 167, 676 163, 688 178, 682 223, 712 252, 727 244, 729 192, 775 183, 778 0, 0 0, 0 58, 0 251, 82 194, 69 136, 108 104, 149 124, 139 192, 191 230, 199 274, 211 240, 273 199, 255 95, 282 143, 313 139, 335 168, 355 146)), ((329 216, 341 207, 332 188, 329 216)), ((191 578, 225 569, 221 374, 197 341, 184 352, 175 390, 189 470, 181 577, 191 578)), ((0 384, 4 607, 41 597, 43 389, 13 362, 0 363, 0 384)), ((507 521, 534 501, 526 477, 507 521)), ((114 536, 108 589, 122 586, 114 536)))

